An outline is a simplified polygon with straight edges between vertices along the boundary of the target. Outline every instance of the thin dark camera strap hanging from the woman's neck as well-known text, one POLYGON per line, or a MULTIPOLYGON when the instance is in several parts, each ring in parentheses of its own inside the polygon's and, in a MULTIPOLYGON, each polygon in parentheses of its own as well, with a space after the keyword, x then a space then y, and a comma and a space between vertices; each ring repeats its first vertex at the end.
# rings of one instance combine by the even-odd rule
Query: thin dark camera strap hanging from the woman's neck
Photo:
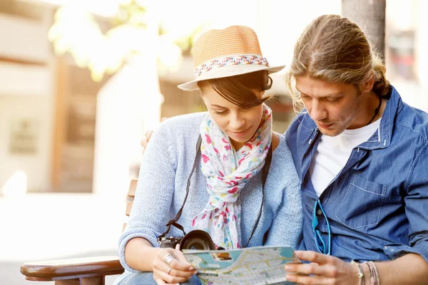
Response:
MULTIPOLYGON (((190 171, 190 175, 188 177, 183 204, 181 205, 180 209, 178 210, 177 214, 175 215, 175 218, 171 219, 168 223, 165 224, 165 226, 168 227, 168 228, 166 229, 165 232, 163 232, 163 234, 161 234, 158 237, 158 242, 160 242, 161 239, 163 237, 165 237, 166 234, 168 234, 168 232, 170 231, 171 226, 174 226, 174 227, 180 229, 183 232, 183 234, 186 235, 183 226, 181 224, 178 224, 178 219, 180 219, 180 217, 181 217, 181 213, 183 212, 183 208, 184 208, 185 202, 187 201, 187 198, 188 198, 188 195, 189 195, 190 180, 192 178, 193 172, 195 172, 196 165, 198 164, 198 157, 200 157, 200 145, 201 144, 202 144, 202 138, 199 135, 198 142, 196 142, 195 160, 193 161, 193 167, 192 167, 192 170, 190 171)), ((259 210, 259 213, 258 213, 258 217, 257 217, 257 219, 255 221, 255 225, 253 227, 253 231, 250 234, 250 239, 248 239, 248 242, 247 242, 247 244, 245 244, 245 247, 248 247, 248 244, 250 243, 250 240, 253 238, 253 234, 255 232, 255 229, 257 229, 258 223, 260 222, 260 217, 262 216, 263 202, 265 201, 265 184, 266 184, 266 180, 267 180, 267 174, 269 173, 269 168, 270 168, 270 162, 271 162, 271 160, 272 160, 272 143, 270 144, 269 150, 267 151, 267 156, 265 158, 265 165, 263 165, 262 204, 260 204, 260 210, 259 210)))

